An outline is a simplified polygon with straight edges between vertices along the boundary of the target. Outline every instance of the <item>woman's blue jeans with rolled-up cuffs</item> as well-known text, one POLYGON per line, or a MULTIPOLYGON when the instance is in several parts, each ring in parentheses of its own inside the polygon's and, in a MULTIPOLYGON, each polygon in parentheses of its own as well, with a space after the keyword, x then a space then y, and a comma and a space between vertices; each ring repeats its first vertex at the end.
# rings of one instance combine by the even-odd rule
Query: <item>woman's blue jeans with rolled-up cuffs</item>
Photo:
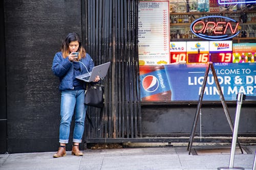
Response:
POLYGON ((68 143, 70 134, 70 124, 72 116, 75 113, 75 128, 73 133, 73 142, 81 143, 84 130, 84 118, 86 117, 86 108, 84 105, 84 90, 65 90, 61 92, 60 104, 60 126, 59 142, 68 143))

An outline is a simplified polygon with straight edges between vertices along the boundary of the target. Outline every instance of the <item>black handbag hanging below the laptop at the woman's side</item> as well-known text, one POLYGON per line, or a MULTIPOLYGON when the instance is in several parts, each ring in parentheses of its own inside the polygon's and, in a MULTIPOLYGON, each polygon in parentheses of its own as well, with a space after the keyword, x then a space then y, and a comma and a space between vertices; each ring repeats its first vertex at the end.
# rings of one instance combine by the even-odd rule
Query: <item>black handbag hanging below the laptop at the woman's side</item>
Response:
POLYGON ((100 84, 87 84, 84 104, 97 108, 104 107, 104 86, 100 84))

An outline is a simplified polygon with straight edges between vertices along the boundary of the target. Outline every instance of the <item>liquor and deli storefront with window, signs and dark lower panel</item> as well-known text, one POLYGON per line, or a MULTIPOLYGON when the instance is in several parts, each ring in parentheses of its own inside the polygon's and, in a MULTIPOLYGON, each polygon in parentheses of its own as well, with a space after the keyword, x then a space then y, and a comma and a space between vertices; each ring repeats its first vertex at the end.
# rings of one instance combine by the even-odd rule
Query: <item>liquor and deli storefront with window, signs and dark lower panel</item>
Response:
MULTIPOLYGON (((139 2, 142 118, 151 117, 142 119, 143 134, 190 133, 209 62, 214 65, 232 118, 238 93, 256 96, 255 3, 230 2, 139 2)), ((242 136, 255 136, 255 103, 244 102, 243 108, 248 110, 242 114, 242 136)), ((200 133, 231 134, 212 70, 202 107, 200 133)))

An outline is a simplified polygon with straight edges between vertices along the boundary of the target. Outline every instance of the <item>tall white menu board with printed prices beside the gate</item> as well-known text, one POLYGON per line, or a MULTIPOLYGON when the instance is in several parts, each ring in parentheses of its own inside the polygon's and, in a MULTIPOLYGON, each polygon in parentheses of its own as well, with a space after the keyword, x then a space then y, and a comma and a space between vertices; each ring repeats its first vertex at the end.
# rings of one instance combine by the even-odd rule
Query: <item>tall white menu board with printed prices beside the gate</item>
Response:
POLYGON ((140 65, 169 64, 169 1, 140 1, 138 50, 140 65))

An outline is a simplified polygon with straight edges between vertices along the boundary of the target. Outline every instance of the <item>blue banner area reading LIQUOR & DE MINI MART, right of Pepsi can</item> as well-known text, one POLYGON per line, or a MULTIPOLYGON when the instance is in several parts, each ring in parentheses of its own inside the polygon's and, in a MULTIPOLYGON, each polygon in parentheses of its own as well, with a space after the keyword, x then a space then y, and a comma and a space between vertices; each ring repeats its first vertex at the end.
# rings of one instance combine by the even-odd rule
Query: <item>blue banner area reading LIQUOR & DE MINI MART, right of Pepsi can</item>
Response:
MULTIPOLYGON (((164 65, 171 101, 198 101, 207 64, 164 65)), ((256 63, 214 63, 214 68, 226 101, 236 101, 238 93, 256 96, 256 63)), ((220 101, 220 95, 209 70, 204 101, 220 101)))

